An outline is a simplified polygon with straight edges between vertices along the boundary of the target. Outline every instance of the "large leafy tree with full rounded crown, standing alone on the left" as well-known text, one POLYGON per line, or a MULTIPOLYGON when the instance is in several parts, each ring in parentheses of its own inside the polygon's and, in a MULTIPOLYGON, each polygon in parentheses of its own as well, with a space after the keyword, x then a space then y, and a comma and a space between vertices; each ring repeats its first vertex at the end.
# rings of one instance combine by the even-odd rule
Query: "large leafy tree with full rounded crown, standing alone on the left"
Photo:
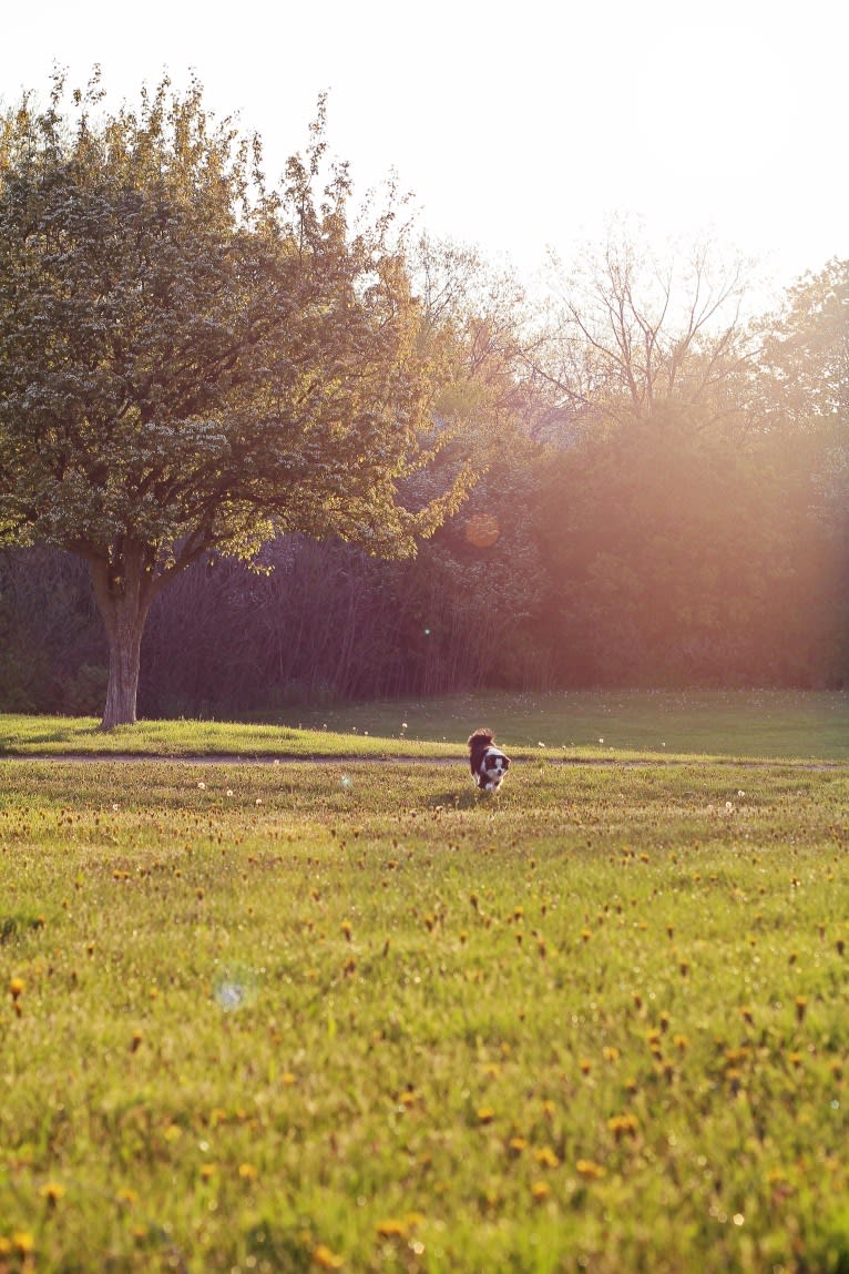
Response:
POLYGON ((353 219, 323 102, 281 189, 197 83, 107 113, 57 76, 0 117, 0 534, 89 563, 107 729, 199 557, 290 530, 403 555, 462 496, 409 480, 434 371, 391 211, 353 219))

